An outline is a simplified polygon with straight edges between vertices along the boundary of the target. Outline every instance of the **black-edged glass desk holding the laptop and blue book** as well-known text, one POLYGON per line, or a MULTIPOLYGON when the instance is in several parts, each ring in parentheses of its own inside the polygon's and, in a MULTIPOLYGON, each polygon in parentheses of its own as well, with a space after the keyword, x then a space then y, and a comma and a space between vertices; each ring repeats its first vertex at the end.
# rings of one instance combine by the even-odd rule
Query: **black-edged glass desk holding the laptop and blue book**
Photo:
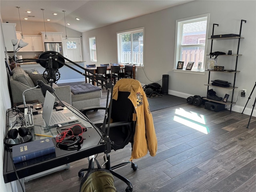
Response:
MULTIPOLYGON (((50 170, 52 168, 56 168, 58 166, 62 166, 70 162, 74 162, 76 160, 80 160, 82 158, 86 158, 94 154, 106 151, 106 143, 100 143, 102 140, 102 136, 98 128, 96 128, 96 126, 91 123, 90 120, 88 120, 80 111, 76 110, 75 108, 66 103, 64 104, 67 106, 67 108, 65 107, 64 110, 69 110, 70 112, 72 112, 75 116, 78 117, 78 120, 76 120, 75 122, 62 124, 62 128, 64 129, 65 127, 70 127, 71 125, 78 123, 82 123, 84 126, 87 127, 87 131, 83 133, 84 141, 81 145, 81 148, 79 150, 63 150, 58 148, 56 146, 56 141, 54 137, 58 134, 57 128, 58 130, 60 128, 48 127, 45 124, 44 119, 42 118, 42 109, 40 109, 38 110, 38 114, 33 115, 34 126, 28 129, 32 133, 33 140, 46 138, 42 136, 36 136, 34 134, 53 136, 51 139, 55 145, 55 153, 14 164, 19 178, 25 178, 27 176, 38 174, 40 172, 44 172, 46 170, 50 170)), ((38 107, 40 108, 40 106, 38 107)), ((21 124, 16 124, 17 118, 19 120, 20 118, 22 118, 22 116, 19 117, 17 114, 15 115, 12 109, 7 110, 6 134, 10 129, 21 127, 21 124)), ((12 143, 18 143, 18 140, 19 138, 15 140, 9 139, 8 141, 12 143)), ((11 150, 5 146, 3 166, 3 176, 5 183, 17 180, 12 165, 10 151, 11 150)))

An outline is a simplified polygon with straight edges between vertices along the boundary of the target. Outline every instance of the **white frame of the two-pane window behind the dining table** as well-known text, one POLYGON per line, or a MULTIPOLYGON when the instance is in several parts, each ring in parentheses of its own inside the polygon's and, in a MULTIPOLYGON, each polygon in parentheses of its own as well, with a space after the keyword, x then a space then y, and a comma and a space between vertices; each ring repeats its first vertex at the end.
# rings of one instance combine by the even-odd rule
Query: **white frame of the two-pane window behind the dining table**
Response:
MULTIPOLYGON (((136 66, 143 66, 143 61, 144 61, 144 46, 145 46, 145 42, 144 42, 144 27, 142 28, 136 28, 136 29, 132 29, 132 30, 127 30, 127 31, 122 31, 122 32, 117 32, 116 33, 116 37, 117 37, 117 55, 118 55, 118 63, 122 63, 121 62, 121 50, 122 50, 122 42, 120 40, 120 37, 122 34, 134 34, 134 33, 139 33, 139 32, 143 32, 143 48, 142 48, 142 62, 140 63, 132 63, 130 62, 130 64, 134 64, 136 66)), ((131 40, 132 40, 132 37, 131 37, 131 40)), ((131 50, 133 50, 133 43, 131 41, 131 50)), ((132 57, 133 57, 133 52, 131 51, 131 54, 132 54, 132 57)), ((131 61, 133 59, 131 58, 131 61)))

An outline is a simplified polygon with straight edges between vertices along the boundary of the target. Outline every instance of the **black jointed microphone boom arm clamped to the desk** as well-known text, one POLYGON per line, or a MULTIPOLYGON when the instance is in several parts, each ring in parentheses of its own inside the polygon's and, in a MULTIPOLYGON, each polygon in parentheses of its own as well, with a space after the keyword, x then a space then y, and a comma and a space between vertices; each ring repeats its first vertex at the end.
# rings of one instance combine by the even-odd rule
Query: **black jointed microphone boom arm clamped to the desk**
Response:
MULTIPOLYGON (((111 109, 112 109, 112 94, 113 94, 113 87, 114 84, 112 82, 108 82, 106 79, 98 76, 97 74, 94 74, 93 72, 91 72, 90 70, 76 64, 75 62, 69 60, 68 58, 65 58, 64 56, 62 56, 60 53, 55 52, 55 51, 46 51, 43 52, 38 59, 20 59, 17 60, 17 62, 37 62, 39 63, 42 67, 46 68, 46 66, 44 66, 45 64, 42 64, 40 61, 44 61, 48 64, 47 68, 49 68, 49 63, 50 63, 50 72, 51 70, 56 70, 56 72, 58 72, 58 68, 54 68, 52 69, 51 67, 53 66, 51 62, 58 62, 59 66, 67 66, 68 68, 78 72, 79 74, 85 76, 86 78, 91 79, 93 82, 97 82, 98 84, 104 86, 107 90, 108 90, 108 94, 107 94, 107 101, 106 101, 106 110, 105 110, 105 115, 104 115, 104 120, 103 120, 103 124, 102 124, 102 142, 101 143, 106 143, 106 151, 104 152, 105 154, 110 153, 111 152, 111 141, 109 138, 109 130, 110 130, 110 118, 108 118, 108 127, 107 127, 107 132, 106 132, 106 123, 107 123, 107 115, 108 113, 111 114, 111 109), (48 58, 40 58, 40 57, 48 57, 48 58), (49 61, 50 60, 50 61, 49 61), (68 62, 74 64, 75 66, 81 68, 82 70, 84 70, 85 72, 88 72, 88 74, 93 75, 89 76, 84 72, 80 72, 79 70, 73 68, 72 66, 65 64, 65 60, 67 60, 68 62), (100 80, 100 82, 98 82, 98 80, 100 80), (104 83, 101 83, 104 82, 104 83), (108 103, 109 100, 109 95, 110 95, 110 102, 108 103), (108 110, 109 109, 109 110, 108 110)), ((59 67, 59 68, 60 68, 59 67)), ((58 72, 58 79, 60 78, 60 74, 58 72)), ((49 79, 49 78, 48 78, 49 79)), ((48 81, 48 79, 46 79, 48 81)), ((52 78, 55 81, 54 82, 48 82, 50 84, 52 83, 56 83, 56 78, 52 78)))

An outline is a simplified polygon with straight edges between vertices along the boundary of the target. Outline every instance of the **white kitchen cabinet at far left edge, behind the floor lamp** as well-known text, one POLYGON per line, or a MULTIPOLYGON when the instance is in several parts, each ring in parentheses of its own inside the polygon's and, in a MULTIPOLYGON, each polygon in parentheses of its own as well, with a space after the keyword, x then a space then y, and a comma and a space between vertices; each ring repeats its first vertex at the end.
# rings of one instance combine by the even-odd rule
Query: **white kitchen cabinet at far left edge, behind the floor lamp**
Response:
POLYGON ((6 51, 13 52, 12 39, 16 39, 16 23, 2 23, 6 51))

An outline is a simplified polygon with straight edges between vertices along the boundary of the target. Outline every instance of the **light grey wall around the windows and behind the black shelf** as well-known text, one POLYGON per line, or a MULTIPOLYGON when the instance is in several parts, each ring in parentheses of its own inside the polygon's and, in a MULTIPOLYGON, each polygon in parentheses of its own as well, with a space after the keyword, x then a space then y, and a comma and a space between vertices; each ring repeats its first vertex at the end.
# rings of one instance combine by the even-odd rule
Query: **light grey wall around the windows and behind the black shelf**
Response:
MULTIPOLYGON (((148 84, 150 81, 162 84, 161 78, 163 74, 169 74, 169 94, 182 96, 184 98, 188 95, 206 96, 207 86, 204 84, 208 81, 208 72, 205 74, 192 74, 174 72, 174 51, 175 51, 175 33, 176 20, 198 16, 210 13, 210 28, 208 37, 212 34, 213 23, 219 24, 215 27, 214 34, 239 34, 240 21, 247 20, 246 24, 242 25, 243 40, 240 42, 240 56, 238 59, 238 70, 241 72, 236 76, 236 86, 239 88, 235 90, 234 101, 238 96, 240 90, 246 89, 247 96, 254 86, 256 76, 255 53, 256 53, 256 1, 234 0, 234 1, 193 1, 106 27, 98 28, 82 34, 83 40, 83 58, 86 64, 91 64, 89 53, 88 38, 96 36, 97 48, 97 65, 101 63, 117 62, 117 44, 116 33, 131 30, 134 28, 144 27, 144 71, 142 68, 137 68, 136 79, 142 84, 148 84), (217 3, 218 2, 218 3, 217 3), (144 72, 150 80, 147 79, 144 72), (160 80, 160 81, 159 81, 160 80)), ((220 41, 218 41, 219 43, 220 41)), ((214 42, 216 43, 216 42, 214 42)), ((210 53, 210 40, 208 40, 208 47, 206 53, 210 53)), ((216 45, 216 44, 215 44, 216 45)), ((235 50, 237 41, 220 42, 216 47, 220 50, 228 52, 228 50, 235 50)), ((236 52, 236 51, 235 51, 236 52)), ((223 59, 222 63, 233 62, 235 59, 227 57, 223 59)), ((220 64, 219 64, 220 65, 220 64)), ((231 67, 230 68, 234 68, 231 67)), ((212 80, 222 79, 233 82, 232 75, 215 73, 211 76, 212 80)), ((229 90, 214 88, 217 96, 224 97, 225 93, 232 94, 229 90)), ((250 114, 254 97, 248 102, 244 113, 250 114)), ((247 98, 238 97, 236 106, 232 110, 242 112, 247 98)))

